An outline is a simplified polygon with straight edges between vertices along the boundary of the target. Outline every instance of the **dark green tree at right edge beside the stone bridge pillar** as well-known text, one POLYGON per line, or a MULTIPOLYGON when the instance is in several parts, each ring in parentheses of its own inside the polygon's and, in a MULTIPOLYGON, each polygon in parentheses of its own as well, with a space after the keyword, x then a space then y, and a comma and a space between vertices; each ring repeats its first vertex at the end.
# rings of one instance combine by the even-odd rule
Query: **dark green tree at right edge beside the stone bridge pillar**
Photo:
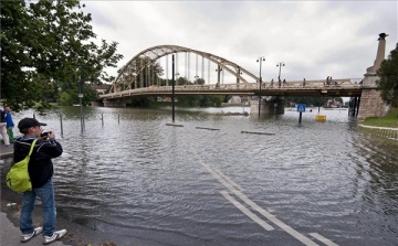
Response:
POLYGON ((381 99, 392 107, 398 107, 398 43, 387 60, 381 62, 377 71, 379 79, 376 81, 381 99))

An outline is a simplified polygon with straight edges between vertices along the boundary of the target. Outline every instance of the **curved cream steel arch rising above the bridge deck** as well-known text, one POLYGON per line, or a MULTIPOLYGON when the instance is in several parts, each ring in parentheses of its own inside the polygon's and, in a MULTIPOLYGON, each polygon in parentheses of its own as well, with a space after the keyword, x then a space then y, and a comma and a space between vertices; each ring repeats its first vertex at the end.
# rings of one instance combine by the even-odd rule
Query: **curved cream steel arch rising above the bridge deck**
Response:
MULTIPOLYGON (((218 73, 220 73, 221 69, 229 72, 231 75, 237 77, 238 84, 240 82, 243 84, 249 83, 247 78, 244 78, 242 75, 252 78, 254 82, 259 82, 259 77, 256 77, 245 68, 218 55, 178 45, 157 45, 139 52, 133 58, 130 58, 126 63, 126 65, 121 68, 116 79, 111 87, 111 93, 132 89, 133 83, 137 82, 137 77, 142 75, 144 69, 149 65, 154 64, 160 57, 167 56, 169 54, 187 52, 200 55, 203 58, 207 58, 208 61, 217 64, 219 67, 218 73), (128 75, 126 74, 129 71, 135 71, 135 73, 133 73, 133 76, 132 73, 129 73, 128 75)), ((137 85, 135 85, 135 87, 137 87, 137 85)))

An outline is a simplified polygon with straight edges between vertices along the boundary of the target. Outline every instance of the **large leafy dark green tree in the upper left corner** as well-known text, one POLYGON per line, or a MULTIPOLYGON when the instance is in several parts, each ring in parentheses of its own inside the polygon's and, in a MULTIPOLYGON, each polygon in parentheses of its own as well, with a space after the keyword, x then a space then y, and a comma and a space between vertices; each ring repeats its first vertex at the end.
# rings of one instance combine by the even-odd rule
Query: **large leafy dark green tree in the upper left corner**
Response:
POLYGON ((104 68, 123 56, 116 42, 92 41, 84 7, 78 0, 1 1, 1 98, 14 110, 45 105, 49 94, 57 97, 81 79, 111 79, 104 68))

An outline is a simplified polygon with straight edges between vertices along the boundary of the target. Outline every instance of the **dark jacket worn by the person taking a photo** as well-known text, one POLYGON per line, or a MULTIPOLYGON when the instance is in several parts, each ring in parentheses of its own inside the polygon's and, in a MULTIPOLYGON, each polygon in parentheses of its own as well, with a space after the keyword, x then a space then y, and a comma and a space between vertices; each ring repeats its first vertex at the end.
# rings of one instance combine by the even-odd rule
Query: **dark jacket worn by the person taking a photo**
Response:
MULTIPOLYGON (((14 163, 23 160, 28 156, 33 140, 33 138, 17 139, 14 142, 14 163)), ((38 139, 28 164, 33 189, 43 186, 48 180, 52 178, 53 163, 51 159, 60 157, 62 151, 62 146, 55 139, 38 139)))

